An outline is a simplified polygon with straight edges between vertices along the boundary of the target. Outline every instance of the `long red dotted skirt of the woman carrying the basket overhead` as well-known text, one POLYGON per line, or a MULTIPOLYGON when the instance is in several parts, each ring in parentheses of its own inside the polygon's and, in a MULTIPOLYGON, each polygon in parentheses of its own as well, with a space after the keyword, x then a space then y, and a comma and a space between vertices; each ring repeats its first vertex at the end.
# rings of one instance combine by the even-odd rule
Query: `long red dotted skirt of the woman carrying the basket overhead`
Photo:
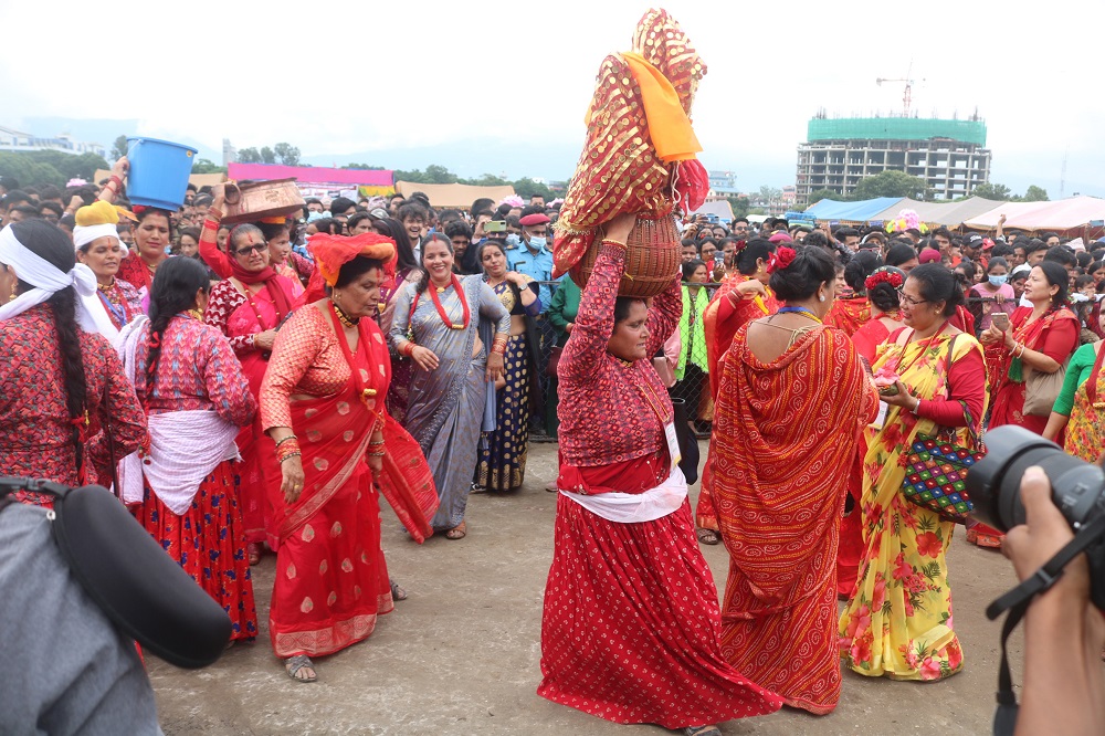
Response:
POLYGON ((537 694, 614 723, 665 728, 775 713, 781 698, 726 663, 691 505, 617 524, 560 495, 537 694))

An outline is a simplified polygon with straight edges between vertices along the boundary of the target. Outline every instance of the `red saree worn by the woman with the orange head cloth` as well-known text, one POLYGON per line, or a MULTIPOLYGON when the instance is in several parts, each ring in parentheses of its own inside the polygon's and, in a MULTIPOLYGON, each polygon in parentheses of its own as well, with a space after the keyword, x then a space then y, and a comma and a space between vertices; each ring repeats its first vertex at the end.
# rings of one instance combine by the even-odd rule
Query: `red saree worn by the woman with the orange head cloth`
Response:
POLYGON ((425 461, 411 455, 410 445, 418 445, 382 413, 391 378, 382 334, 361 320, 352 355, 340 327, 336 332, 351 368, 345 388, 291 403, 303 494, 288 504, 278 485, 270 486, 278 549, 269 624, 281 658, 330 654, 366 639, 377 617, 394 606, 380 549, 380 506, 365 462, 377 427, 382 423, 387 442, 379 488, 417 539, 429 535, 433 511, 427 507, 436 501, 425 461))

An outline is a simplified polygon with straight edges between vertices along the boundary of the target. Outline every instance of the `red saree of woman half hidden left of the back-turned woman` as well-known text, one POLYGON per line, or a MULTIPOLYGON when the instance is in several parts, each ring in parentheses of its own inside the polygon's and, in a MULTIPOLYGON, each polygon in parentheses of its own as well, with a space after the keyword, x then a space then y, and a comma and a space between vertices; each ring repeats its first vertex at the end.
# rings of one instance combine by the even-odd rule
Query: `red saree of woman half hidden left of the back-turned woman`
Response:
MULTIPOLYGON (((775 292, 768 288, 767 297, 738 299, 737 306, 734 307, 728 294, 745 281, 748 281, 745 276, 737 276, 723 283, 702 313, 703 332, 706 335, 706 362, 709 368, 709 393, 714 401, 717 401, 717 392, 722 386, 718 365, 726 350, 729 349, 729 345, 733 344, 733 336, 753 319, 775 314, 782 306, 782 303, 775 298, 775 292)), ((713 443, 711 443, 708 452, 713 451, 713 443)), ((717 532, 717 512, 714 511, 712 495, 713 472, 711 464, 707 456, 706 466, 702 471, 702 483, 698 485, 698 503, 695 506, 694 523, 699 528, 717 532)))

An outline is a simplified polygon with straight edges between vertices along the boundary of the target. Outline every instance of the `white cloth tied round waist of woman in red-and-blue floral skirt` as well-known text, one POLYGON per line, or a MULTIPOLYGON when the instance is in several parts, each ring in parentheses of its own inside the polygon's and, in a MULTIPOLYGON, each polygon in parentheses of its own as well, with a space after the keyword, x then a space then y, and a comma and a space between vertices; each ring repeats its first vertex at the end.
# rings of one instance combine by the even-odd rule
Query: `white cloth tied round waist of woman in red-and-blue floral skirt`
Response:
POLYGON ((137 452, 123 459, 123 501, 143 501, 143 475, 169 511, 182 515, 208 475, 224 460, 238 460, 239 428, 214 411, 191 410, 150 414, 149 464, 137 452))

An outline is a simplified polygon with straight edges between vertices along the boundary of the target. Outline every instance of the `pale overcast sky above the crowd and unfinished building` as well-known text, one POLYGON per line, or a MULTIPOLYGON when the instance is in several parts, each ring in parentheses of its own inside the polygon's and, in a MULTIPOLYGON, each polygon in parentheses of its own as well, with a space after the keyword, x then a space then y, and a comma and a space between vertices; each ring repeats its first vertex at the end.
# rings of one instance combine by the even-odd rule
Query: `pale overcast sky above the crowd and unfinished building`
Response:
MULTIPOLYGON (((425 149, 422 165, 464 176, 562 179, 599 62, 629 48, 648 7, 56 0, 39 15, 0 0, 0 125, 137 118, 144 135, 212 150, 224 137, 286 140, 305 157, 373 153, 402 168, 394 151, 408 161, 425 149)), ((1046 12, 990 0, 662 7, 708 66, 693 113, 701 159, 736 171, 741 189, 793 182, 819 108, 899 112, 903 85, 875 78, 905 77, 912 62, 922 116, 977 108, 986 119, 991 180, 1055 199, 1065 155, 1066 196, 1105 196, 1099 0, 1052 0, 1046 12)))

